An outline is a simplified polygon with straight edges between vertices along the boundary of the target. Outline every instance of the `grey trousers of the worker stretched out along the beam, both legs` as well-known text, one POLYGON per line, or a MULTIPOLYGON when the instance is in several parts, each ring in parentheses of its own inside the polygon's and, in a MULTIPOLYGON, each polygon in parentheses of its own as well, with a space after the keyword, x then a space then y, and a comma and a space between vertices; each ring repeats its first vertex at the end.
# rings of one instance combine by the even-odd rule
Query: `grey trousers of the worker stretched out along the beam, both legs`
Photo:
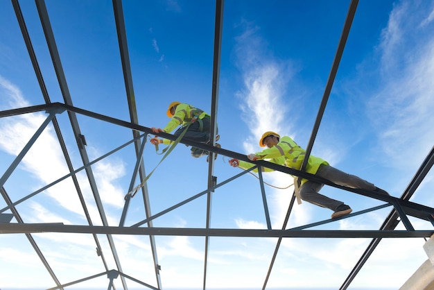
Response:
MULTIPOLYGON (((373 185, 371 182, 367 182, 358 176, 345 173, 326 164, 320 165, 320 168, 315 175, 330 180, 336 185, 367 190, 375 189, 375 185, 373 185)), ((319 205, 320 207, 326 207, 335 212, 338 206, 342 205, 343 203, 342 201, 336 201, 333 198, 319 194, 318 191, 320 191, 323 186, 324 184, 322 183, 308 180, 304 182, 300 188, 300 197, 303 201, 313 203, 314 205, 319 205)))

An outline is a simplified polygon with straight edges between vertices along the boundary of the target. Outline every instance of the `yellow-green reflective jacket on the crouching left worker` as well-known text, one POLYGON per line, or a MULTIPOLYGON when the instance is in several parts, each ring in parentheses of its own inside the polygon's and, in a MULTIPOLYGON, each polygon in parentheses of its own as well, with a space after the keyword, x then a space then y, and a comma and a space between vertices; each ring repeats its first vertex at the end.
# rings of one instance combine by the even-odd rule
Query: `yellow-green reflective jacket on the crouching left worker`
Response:
MULTIPOLYGON (((191 122, 191 119, 193 117, 197 116, 198 119, 203 119, 205 117, 211 117, 206 112, 193 107, 192 105, 186 104, 186 103, 180 103, 177 105, 175 114, 173 114, 173 117, 171 121, 169 121, 166 125, 166 127, 163 128, 164 132, 171 133, 177 126, 186 126, 187 123, 191 122)), ((171 140, 169 139, 163 139, 163 144, 170 144, 171 140)))

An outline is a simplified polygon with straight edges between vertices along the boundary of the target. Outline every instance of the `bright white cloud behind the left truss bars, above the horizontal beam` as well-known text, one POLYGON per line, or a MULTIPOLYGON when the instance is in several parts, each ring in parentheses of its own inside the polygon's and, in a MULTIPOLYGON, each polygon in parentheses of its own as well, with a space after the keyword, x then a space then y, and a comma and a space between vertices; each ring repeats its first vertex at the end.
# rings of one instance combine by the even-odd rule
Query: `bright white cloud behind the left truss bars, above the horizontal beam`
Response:
MULTIPOLYGON (((28 105, 19 88, 4 78, 0 78, 0 88, 2 101, 8 103, 8 107, 19 108, 22 105, 28 105)), ((45 119, 46 116, 43 113, 21 114, 2 119, 0 123, 0 149, 10 155, 18 155, 45 119)), ((92 148, 89 151, 92 151, 92 148)), ((69 173, 52 126, 47 126, 24 156, 21 164, 24 165, 26 171, 40 181, 40 187, 69 173)), ((119 185, 116 185, 116 180, 125 174, 123 162, 120 160, 112 160, 111 162, 102 160, 92 168, 99 185, 98 189, 104 193, 101 195, 103 201, 117 208, 123 207, 124 192, 119 185)), ((89 192, 89 182, 86 182, 87 178, 83 173, 78 173, 77 176, 81 180, 81 189, 86 195, 86 192, 89 192)), ((83 206, 78 200, 71 178, 50 187, 46 192, 65 209, 83 215, 83 206)), ((89 198, 93 197, 89 196, 89 198)), ((99 216, 96 207, 92 207, 92 205, 89 205, 89 212, 94 213, 92 216, 99 216)))

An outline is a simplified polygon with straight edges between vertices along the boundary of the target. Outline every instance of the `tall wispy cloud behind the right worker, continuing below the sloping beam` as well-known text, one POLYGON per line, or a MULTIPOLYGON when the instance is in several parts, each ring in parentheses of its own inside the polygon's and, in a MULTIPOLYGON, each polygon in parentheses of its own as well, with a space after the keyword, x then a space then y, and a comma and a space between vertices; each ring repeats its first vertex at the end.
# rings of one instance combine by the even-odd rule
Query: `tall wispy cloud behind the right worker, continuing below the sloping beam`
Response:
MULTIPOLYGON (((240 108, 243 120, 248 125, 250 136, 243 146, 248 153, 258 151, 258 140, 266 131, 275 131, 280 135, 290 132, 291 124, 285 121, 289 102, 286 86, 295 69, 290 60, 279 60, 267 50, 266 40, 261 29, 252 22, 243 20, 239 27, 242 33, 236 37, 236 65, 243 76, 244 87, 237 93, 241 100, 240 108)), ((288 184, 293 178, 287 174, 268 173, 273 184, 288 184)), ((288 210, 292 188, 284 194, 280 189, 273 189, 270 198, 272 223, 281 227, 288 210), (289 196, 289 198, 288 198, 289 196)), ((306 212, 295 210, 298 221, 306 221, 306 212)))

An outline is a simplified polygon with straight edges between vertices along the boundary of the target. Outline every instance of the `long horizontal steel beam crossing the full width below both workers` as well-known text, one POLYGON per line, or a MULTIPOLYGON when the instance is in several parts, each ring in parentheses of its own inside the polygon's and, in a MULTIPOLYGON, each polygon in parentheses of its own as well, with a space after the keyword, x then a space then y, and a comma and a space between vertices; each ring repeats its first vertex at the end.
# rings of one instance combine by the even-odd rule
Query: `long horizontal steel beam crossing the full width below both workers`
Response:
POLYGON ((288 237, 288 238, 415 238, 431 237, 434 230, 245 230, 223 228, 131 228, 61 223, 3 223, 0 234, 71 232, 79 234, 134 234, 191 237, 288 237))

